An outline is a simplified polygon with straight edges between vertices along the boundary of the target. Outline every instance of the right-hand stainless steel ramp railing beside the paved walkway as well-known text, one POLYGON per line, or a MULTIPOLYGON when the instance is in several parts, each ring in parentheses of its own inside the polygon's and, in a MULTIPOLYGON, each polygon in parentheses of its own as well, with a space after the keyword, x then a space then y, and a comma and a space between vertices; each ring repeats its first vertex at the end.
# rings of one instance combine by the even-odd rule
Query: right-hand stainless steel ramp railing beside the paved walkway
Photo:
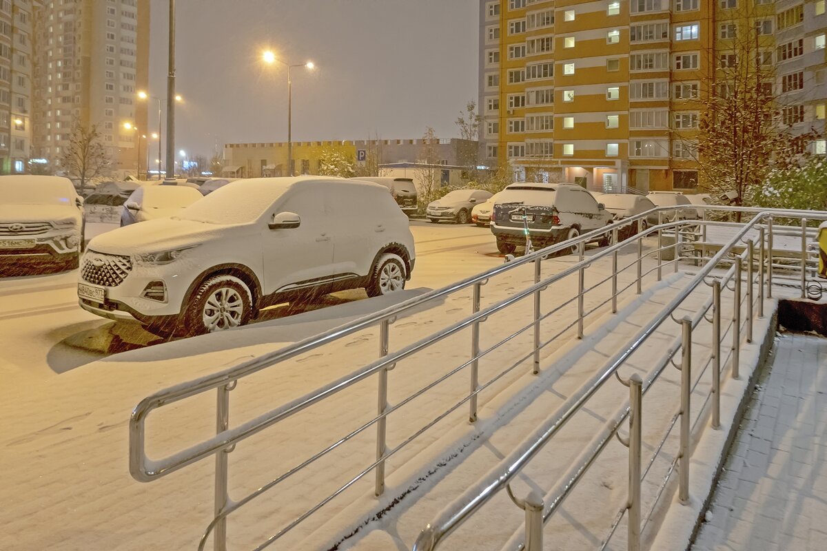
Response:
MULTIPOLYGON (((723 210, 742 211, 747 213, 756 211, 753 209, 742 209, 735 207, 729 207, 728 209, 723 210)), ((484 506, 486 502, 490 501, 503 489, 508 492, 509 497, 511 497, 512 501, 514 501, 516 505, 526 511, 524 536, 520 538, 519 534, 515 534, 514 538, 509 540, 509 544, 504 546, 504 549, 528 549, 529 551, 538 551, 539 549, 543 549, 543 525, 547 523, 554 512, 561 506, 562 501, 566 499, 566 496, 568 496, 574 487, 576 487, 576 484, 588 471, 591 464, 595 462, 595 459, 600 455, 600 452, 605 449, 606 444, 609 443, 612 436, 618 437, 621 443, 629 448, 629 498, 627 503, 620 509, 619 515, 616 516, 614 522, 611 524, 609 534, 606 539, 603 540, 603 544, 600 549, 605 549, 606 545, 609 543, 609 539, 619 525, 620 520, 626 514, 629 515, 629 533, 627 539, 628 548, 630 550, 640 549, 640 534, 646 525, 645 523, 648 523, 648 519, 651 518, 654 508, 657 506, 657 503, 662 496, 662 492, 667 486, 667 482, 675 470, 678 472, 678 499, 684 504, 689 499, 689 460, 691 458, 690 436, 691 430, 693 429, 693 425, 691 424, 691 393, 700 382, 700 378, 695 378, 693 380, 691 373, 693 330, 695 330, 697 325, 700 324, 700 321, 703 320, 709 321, 712 325, 713 346, 710 353, 710 358, 700 373, 700 377, 702 377, 706 371, 706 368, 711 363, 711 392, 705 397, 701 408, 704 408, 710 400, 712 401, 711 425, 714 428, 717 428, 720 425, 719 399, 720 373, 722 367, 721 340, 724 339, 726 334, 731 330, 732 344, 731 354, 729 357, 731 375, 733 378, 739 378, 739 351, 743 340, 741 316, 743 303, 746 302, 747 309, 745 323, 746 341, 751 342, 753 340, 753 306, 755 305, 754 287, 757 283, 758 316, 763 316, 765 288, 764 275, 766 273, 767 296, 771 296, 772 273, 774 269, 778 268, 777 264, 774 264, 772 260, 772 238, 774 232, 777 232, 777 230, 773 227, 772 217, 801 217, 801 214, 801 212, 793 211, 760 212, 758 213, 758 216, 753 218, 752 221, 749 221, 744 225, 739 225, 740 230, 727 243, 719 247, 717 254, 711 258, 705 257, 704 255, 703 261, 705 265, 692 279, 691 283, 681 290, 672 302, 665 306, 653 319, 653 321, 643 327, 643 329, 638 332, 638 335, 635 335, 633 340, 630 341, 629 346, 624 347, 623 350, 621 350, 614 356, 614 358, 606 363, 605 368, 601 368, 589 382, 581 387, 579 392, 576 392, 573 396, 571 396, 558 409, 558 413, 553 416, 554 420, 550 424, 540 427, 533 435, 525 439, 523 444, 519 446, 518 449, 515 449, 511 454, 505 457, 496 468, 492 469, 487 476, 480 480, 480 483, 478 483, 475 487, 469 488, 462 496, 459 496, 451 506, 448 506, 436 520, 425 527, 419 535, 416 544, 414 544, 414 551, 431 551, 436 549, 438 544, 440 544, 440 542, 442 542, 448 534, 452 534, 454 530, 457 530, 457 528, 469 517, 471 517, 471 515, 478 511, 480 507, 484 506), (765 220, 766 227, 761 225, 762 221, 765 220), (755 244, 753 239, 745 239, 748 233, 753 229, 756 229, 759 232, 759 254, 757 259, 758 278, 755 277, 753 270, 756 261, 754 250, 755 244), (765 233, 767 236, 766 242, 764 240, 765 233), (740 247, 739 244, 742 242, 744 246, 740 247), (736 247, 739 249, 743 248, 743 252, 740 254, 732 254, 732 250, 736 247), (730 256, 732 258, 729 258, 730 256), (716 268, 719 267, 719 264, 722 264, 728 260, 732 262, 732 268, 729 268, 729 270, 724 273, 722 277, 715 278, 712 283, 709 283, 712 287, 712 297, 706 301, 703 306, 701 306, 695 316, 676 320, 674 317, 676 308, 681 306, 681 304, 686 301, 687 297, 690 296, 691 292, 693 292, 696 287, 698 287, 701 283, 705 283, 707 278, 710 278, 710 275, 716 268), (743 264, 747 265, 746 296, 743 296, 742 293, 743 264), (729 325, 724 328, 724 335, 722 336, 721 287, 729 285, 730 282, 734 285, 733 317, 729 322, 729 325), (710 309, 712 311, 711 320, 706 317, 710 309), (658 327, 660 327, 665 321, 670 319, 670 317, 672 320, 681 325, 681 337, 679 339, 679 344, 673 344, 673 346, 668 349, 665 357, 656 363, 656 367, 649 373, 645 383, 642 384, 642 382, 636 380, 634 376, 625 381, 620 378, 619 368, 623 366, 629 357, 636 350, 640 349, 648 338, 653 335, 655 330, 657 330, 658 327), (675 367, 679 368, 681 371, 681 404, 678 408, 678 413, 676 413, 676 415, 672 418, 672 423, 667 430, 667 434, 663 436, 660 444, 657 446, 657 449, 655 449, 647 468, 642 473, 639 431, 640 423, 643 418, 643 407, 640 396, 641 394, 648 392, 653 383, 660 377, 663 370, 669 363, 672 362, 672 358, 678 351, 681 352, 681 363, 675 367), (581 411, 581 409, 589 401, 590 397, 593 397, 595 392, 597 392, 600 387, 603 387, 605 382, 609 381, 612 375, 618 378, 624 385, 629 387, 629 401, 626 404, 620 404, 619 414, 611 419, 609 423, 607 423, 605 430, 600 435, 596 435, 595 439, 592 440, 592 442, 596 441, 594 448, 590 449, 590 452, 585 453, 581 456, 580 460, 576 461, 566 476, 561 478, 561 482, 558 483, 557 487, 553 488, 552 491, 547 494, 545 500, 542 496, 537 495, 536 488, 531 493, 530 499, 527 498, 526 500, 519 500, 514 497, 514 493, 510 487, 510 482, 514 479, 514 477, 523 471, 523 468, 525 468, 528 463, 530 463, 531 460, 537 456, 543 447, 548 444, 560 430, 562 430, 562 427, 566 425, 566 423, 571 420, 571 418, 575 416, 578 411, 581 411), (620 425, 627 418, 629 418, 629 438, 621 439, 619 437, 618 430, 620 425), (657 492, 657 496, 654 497, 652 509, 647 515, 642 517, 641 482, 643 478, 646 477, 649 469, 652 467, 657 454, 659 454, 663 449, 667 438, 676 424, 676 420, 680 420, 679 448, 675 454, 674 460, 672 461, 671 468, 667 470, 667 474, 662 484, 659 486, 660 489, 657 492), (529 503, 530 507, 527 505, 529 503), (641 525, 642 518, 645 519, 643 526, 641 525), (523 543, 520 543, 520 541, 523 543)), ((811 219, 827 219, 827 213, 825 212, 808 212, 807 216, 810 216, 811 219)), ((689 224, 693 224, 693 222, 688 221, 687 225, 689 224)), ((709 226, 708 221, 702 220, 699 225, 702 226, 700 228, 700 234, 705 237, 707 226, 709 226)), ((679 235, 680 230, 677 230, 674 233, 675 235, 679 235)), ((795 232, 792 230, 785 230, 782 233, 787 235, 795 235, 795 232)), ((659 234, 658 239, 660 243, 663 232, 660 231, 659 234)), ((802 292, 804 292, 803 287, 805 285, 805 277, 808 269, 806 264, 808 255, 805 246, 808 235, 806 218, 801 218, 801 230, 799 234, 801 235, 801 263, 799 269, 801 270, 802 292)), ((705 245, 705 243, 701 243, 701 250, 705 250, 705 245)), ((658 248, 658 254, 660 254, 661 249, 662 247, 658 248)), ((660 268, 660 264, 661 263, 658 263, 658 268, 660 268)), ((786 268, 790 267, 787 266, 786 268)), ((658 269, 658 275, 660 275, 660 269, 658 269)), ((700 417, 696 417, 696 422, 699 419, 700 417)))

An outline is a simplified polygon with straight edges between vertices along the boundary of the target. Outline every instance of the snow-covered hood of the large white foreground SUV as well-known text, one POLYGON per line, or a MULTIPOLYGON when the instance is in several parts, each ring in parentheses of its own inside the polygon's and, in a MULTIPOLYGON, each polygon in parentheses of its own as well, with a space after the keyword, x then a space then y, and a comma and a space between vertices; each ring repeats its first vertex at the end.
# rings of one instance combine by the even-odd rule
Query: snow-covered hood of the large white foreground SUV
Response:
POLYGON ((175 218, 161 218, 108 231, 89 241, 98 253, 154 253, 226 238, 230 233, 251 231, 250 225, 218 226, 175 218))

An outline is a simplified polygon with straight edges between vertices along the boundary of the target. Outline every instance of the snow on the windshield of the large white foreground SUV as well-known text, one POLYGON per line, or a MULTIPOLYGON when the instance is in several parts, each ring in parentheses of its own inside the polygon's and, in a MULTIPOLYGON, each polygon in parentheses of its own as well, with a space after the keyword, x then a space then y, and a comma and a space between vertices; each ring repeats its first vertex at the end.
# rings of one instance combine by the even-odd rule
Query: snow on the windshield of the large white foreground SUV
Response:
POLYGON ((173 218, 207 224, 249 224, 258 220, 287 189, 266 179, 237 181, 218 188, 173 218))

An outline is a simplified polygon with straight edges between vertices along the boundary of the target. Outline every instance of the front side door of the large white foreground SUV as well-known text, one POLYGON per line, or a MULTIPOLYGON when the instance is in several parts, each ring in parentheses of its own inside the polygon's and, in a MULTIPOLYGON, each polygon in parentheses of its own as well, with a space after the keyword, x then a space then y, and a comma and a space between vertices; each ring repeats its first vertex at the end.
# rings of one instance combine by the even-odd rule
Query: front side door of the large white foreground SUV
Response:
POLYGON ((327 186, 304 183, 294 186, 265 212, 262 226, 262 285, 265 294, 311 287, 324 290, 333 275, 332 223, 327 216, 327 186), (299 215, 299 226, 270 229, 280 212, 299 215), (319 287, 322 285, 322 287, 319 287))

